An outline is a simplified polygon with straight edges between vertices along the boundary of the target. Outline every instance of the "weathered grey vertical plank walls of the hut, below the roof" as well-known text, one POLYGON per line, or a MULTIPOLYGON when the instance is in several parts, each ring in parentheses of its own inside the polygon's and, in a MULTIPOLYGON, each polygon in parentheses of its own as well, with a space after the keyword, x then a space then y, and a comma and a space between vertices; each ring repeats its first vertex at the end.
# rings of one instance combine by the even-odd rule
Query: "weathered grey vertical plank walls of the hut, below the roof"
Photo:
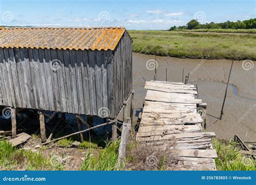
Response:
POLYGON ((85 115, 106 107, 114 118, 131 92, 131 42, 125 32, 114 51, 0 48, 0 105, 85 115))

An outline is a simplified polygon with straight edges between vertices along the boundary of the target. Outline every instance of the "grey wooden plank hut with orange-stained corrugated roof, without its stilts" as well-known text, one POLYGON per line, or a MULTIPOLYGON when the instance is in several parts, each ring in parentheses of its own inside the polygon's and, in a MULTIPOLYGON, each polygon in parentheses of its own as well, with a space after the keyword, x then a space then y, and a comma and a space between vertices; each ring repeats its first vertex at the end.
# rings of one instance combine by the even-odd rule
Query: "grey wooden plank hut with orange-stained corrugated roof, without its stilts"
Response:
POLYGON ((115 118, 131 91, 124 28, 0 30, 0 106, 115 118))

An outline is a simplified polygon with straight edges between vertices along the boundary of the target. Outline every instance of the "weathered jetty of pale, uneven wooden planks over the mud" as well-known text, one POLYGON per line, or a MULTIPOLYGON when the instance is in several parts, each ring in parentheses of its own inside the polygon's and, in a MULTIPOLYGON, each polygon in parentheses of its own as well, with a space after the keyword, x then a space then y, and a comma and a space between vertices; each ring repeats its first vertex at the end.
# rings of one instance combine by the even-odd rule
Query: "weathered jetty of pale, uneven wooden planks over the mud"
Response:
POLYGON ((198 109, 203 110, 205 104, 194 98, 197 89, 169 81, 147 81, 145 88, 136 140, 155 143, 163 150, 175 140, 179 150, 177 170, 215 170, 214 158, 218 156, 211 141, 215 134, 202 131, 198 109))

